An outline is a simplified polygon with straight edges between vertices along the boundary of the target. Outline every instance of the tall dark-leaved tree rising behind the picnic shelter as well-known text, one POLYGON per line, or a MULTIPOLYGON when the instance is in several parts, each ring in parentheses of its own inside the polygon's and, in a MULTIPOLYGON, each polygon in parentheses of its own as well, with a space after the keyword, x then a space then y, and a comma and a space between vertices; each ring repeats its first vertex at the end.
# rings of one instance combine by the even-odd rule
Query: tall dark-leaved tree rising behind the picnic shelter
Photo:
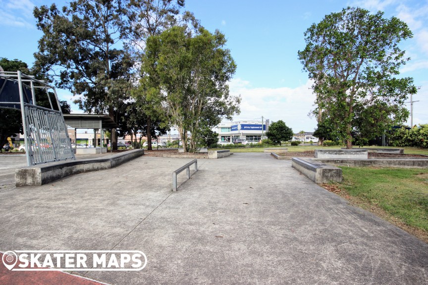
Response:
MULTIPOLYGON (((58 10, 55 4, 34 8, 43 32, 34 55, 42 72, 59 80, 57 86, 79 96, 86 112, 104 113, 114 122, 120 102, 129 98, 133 62, 122 49, 124 7, 120 0, 74 0, 58 10)), ((116 130, 111 132, 113 149, 116 130)))

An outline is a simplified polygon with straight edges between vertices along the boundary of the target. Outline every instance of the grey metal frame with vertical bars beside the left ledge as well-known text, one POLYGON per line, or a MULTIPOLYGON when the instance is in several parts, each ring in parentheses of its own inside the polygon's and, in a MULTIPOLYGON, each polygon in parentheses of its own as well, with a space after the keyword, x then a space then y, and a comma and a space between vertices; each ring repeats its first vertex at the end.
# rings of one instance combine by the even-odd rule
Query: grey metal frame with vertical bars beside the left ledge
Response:
POLYGON ((28 166, 75 159, 54 86, 20 71, 0 70, 0 108, 21 111, 28 166), (37 89, 46 91, 50 108, 38 105, 37 89))

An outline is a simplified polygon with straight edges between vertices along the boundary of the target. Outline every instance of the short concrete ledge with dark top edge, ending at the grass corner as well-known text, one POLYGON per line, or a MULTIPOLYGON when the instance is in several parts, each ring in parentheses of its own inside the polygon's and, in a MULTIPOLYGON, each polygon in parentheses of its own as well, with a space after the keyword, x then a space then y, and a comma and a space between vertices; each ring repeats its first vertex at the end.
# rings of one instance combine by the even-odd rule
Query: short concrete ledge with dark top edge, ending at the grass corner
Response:
POLYGON ((300 171, 315 183, 327 183, 329 181, 342 181, 342 169, 315 161, 309 158, 291 159, 291 166, 300 171))

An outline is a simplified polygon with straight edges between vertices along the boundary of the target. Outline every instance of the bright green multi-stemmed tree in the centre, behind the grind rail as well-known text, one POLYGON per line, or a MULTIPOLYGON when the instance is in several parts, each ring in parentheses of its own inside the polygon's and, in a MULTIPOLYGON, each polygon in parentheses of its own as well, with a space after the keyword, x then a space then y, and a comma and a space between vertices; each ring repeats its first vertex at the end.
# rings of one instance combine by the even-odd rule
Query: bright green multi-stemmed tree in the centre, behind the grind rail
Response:
POLYGON ((159 81, 160 88, 154 84, 151 90, 164 102, 185 151, 188 142, 191 151, 197 150, 201 129, 239 113, 240 97, 229 95, 227 85, 236 65, 225 43, 219 31, 199 28, 194 35, 186 27, 173 27, 147 41, 142 71, 159 81))

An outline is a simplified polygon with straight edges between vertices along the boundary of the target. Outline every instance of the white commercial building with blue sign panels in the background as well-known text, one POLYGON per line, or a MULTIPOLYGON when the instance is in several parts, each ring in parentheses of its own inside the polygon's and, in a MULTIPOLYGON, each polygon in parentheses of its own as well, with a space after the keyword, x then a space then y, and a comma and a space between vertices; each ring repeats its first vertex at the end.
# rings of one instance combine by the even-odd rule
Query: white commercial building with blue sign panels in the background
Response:
POLYGON ((220 123, 216 127, 218 141, 233 142, 235 139, 246 139, 247 141, 260 141, 266 138, 269 128, 269 120, 262 121, 238 121, 220 123))

